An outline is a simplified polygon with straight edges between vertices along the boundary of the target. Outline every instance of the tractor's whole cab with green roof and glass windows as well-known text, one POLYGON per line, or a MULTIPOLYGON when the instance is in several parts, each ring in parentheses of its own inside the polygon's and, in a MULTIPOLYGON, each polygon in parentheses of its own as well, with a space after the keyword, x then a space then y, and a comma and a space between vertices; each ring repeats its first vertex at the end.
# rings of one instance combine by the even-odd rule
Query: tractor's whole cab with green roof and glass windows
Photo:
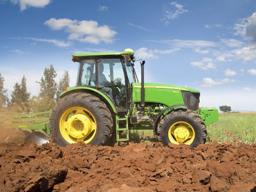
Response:
POLYGON ((136 82, 136 74, 130 60, 134 52, 99 52, 74 54, 79 62, 77 87, 88 86, 106 94, 118 111, 127 111, 129 85, 136 82))

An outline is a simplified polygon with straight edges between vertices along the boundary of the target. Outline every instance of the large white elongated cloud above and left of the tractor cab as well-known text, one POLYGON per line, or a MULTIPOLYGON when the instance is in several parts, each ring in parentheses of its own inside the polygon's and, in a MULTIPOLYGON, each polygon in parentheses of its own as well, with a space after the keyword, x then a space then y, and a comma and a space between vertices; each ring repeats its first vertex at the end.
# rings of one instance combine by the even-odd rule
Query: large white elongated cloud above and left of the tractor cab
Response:
POLYGON ((116 31, 109 26, 99 26, 94 20, 70 20, 51 18, 44 23, 51 29, 65 29, 70 35, 68 39, 79 40, 80 42, 88 42, 91 44, 99 44, 100 42, 111 43, 116 31))

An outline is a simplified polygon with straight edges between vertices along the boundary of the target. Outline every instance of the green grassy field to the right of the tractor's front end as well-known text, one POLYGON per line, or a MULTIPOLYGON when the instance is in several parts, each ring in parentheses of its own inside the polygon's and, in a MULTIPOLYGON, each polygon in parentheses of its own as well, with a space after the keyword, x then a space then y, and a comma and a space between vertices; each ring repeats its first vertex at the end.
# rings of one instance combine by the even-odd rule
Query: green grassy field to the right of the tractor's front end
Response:
POLYGON ((256 143, 256 113, 220 114, 218 122, 207 127, 207 142, 214 140, 256 143))

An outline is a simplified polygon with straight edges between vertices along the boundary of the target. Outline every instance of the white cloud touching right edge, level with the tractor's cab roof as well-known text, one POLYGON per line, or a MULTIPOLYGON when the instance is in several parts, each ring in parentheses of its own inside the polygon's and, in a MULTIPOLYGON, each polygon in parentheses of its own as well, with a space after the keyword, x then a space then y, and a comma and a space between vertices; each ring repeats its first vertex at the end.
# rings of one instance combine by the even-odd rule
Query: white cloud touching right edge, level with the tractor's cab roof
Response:
POLYGON ((249 47, 243 47, 236 51, 236 59, 251 61, 256 59, 256 47, 251 45, 249 47))

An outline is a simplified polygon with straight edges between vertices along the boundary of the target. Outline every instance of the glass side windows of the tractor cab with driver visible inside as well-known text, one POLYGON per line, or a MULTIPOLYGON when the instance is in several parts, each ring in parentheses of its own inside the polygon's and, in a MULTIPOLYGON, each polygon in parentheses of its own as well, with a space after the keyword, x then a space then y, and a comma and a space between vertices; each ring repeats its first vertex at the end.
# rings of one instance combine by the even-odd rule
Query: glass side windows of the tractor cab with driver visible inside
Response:
MULTIPOLYGON (((77 86, 96 87, 111 97, 116 108, 124 109, 127 98, 124 68, 120 58, 82 60, 79 65, 77 86)), ((132 70, 128 73, 130 72, 132 70)))

